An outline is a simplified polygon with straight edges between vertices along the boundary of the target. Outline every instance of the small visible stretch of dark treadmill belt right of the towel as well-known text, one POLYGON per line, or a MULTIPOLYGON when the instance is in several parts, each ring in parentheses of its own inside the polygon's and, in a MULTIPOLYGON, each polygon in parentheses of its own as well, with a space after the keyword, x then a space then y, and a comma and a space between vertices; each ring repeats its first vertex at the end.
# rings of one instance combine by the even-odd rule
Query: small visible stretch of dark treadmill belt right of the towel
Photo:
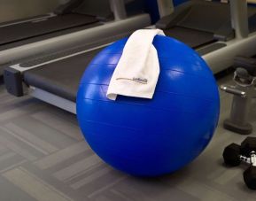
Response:
POLYGON ((200 46, 216 41, 213 39, 212 33, 193 30, 190 28, 173 27, 164 30, 164 32, 167 36, 173 37, 182 43, 186 43, 193 49, 197 49, 200 46))

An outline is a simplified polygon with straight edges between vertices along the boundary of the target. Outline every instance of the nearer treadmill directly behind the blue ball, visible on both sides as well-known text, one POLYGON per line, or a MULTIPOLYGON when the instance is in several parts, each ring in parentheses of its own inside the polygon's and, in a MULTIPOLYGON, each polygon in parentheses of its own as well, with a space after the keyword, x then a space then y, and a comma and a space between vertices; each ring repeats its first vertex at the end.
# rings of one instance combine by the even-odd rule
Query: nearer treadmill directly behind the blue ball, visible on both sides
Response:
MULTIPOLYGON (((256 8, 250 7, 247 11, 245 1, 231 0, 230 4, 222 4, 194 0, 180 5, 175 12, 160 19, 156 27, 161 27, 167 35, 188 43, 207 63, 227 64, 228 61, 228 65, 224 66, 227 68, 232 65, 234 55, 244 55, 246 52, 251 54, 251 51, 255 51, 256 26, 253 23, 256 24, 256 8), (199 16, 198 11, 203 11, 203 16, 199 16), (216 13, 218 16, 213 18, 216 13), (212 21, 204 24, 202 19, 212 21), (249 23, 246 23, 248 19, 250 29, 249 23), (253 50, 250 46, 253 46, 253 50)), ((6 89, 16 97, 29 94, 76 113, 76 93, 89 61, 107 44, 123 36, 125 35, 117 35, 91 46, 77 47, 8 66, 4 71, 6 89)), ((211 67, 215 73, 224 69, 221 66, 211 67)))

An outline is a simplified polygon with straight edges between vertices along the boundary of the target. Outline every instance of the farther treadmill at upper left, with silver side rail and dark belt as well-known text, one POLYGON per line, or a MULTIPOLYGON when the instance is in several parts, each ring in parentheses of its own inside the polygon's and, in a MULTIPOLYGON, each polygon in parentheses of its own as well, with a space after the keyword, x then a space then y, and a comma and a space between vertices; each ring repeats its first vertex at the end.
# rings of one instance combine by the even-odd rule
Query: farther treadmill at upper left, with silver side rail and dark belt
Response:
POLYGON ((150 25, 147 13, 124 12, 131 3, 123 2, 70 0, 50 14, 0 24, 0 65, 150 25))

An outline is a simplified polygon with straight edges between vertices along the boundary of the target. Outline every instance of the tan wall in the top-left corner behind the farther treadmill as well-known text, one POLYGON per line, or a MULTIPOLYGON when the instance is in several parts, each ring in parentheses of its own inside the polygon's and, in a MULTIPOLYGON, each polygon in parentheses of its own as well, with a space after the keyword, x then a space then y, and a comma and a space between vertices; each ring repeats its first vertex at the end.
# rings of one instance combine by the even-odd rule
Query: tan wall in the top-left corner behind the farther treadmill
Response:
POLYGON ((0 0, 0 22, 52 12, 64 0, 0 0))

